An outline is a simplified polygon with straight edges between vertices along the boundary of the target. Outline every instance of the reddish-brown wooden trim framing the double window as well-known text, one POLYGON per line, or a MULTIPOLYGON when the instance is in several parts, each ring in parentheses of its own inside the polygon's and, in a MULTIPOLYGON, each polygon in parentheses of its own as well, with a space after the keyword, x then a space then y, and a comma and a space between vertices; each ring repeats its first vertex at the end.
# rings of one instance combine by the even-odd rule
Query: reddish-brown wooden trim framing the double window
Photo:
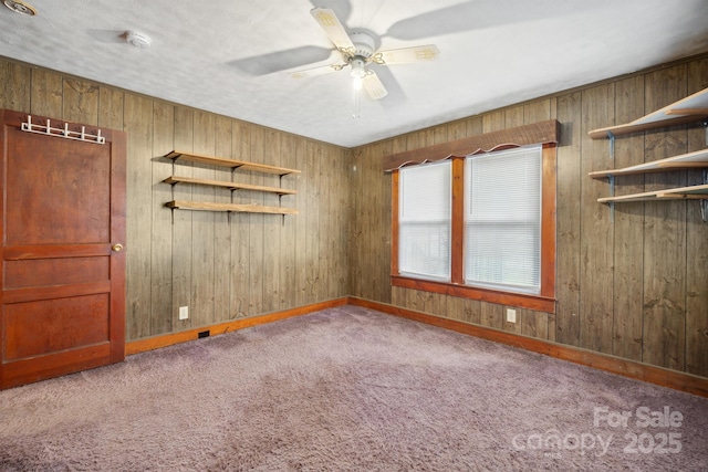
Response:
MULTIPOLYGON (((504 145, 504 147, 518 147, 504 145)), ((556 144, 542 145, 541 187, 541 292, 538 295, 503 292, 465 285, 464 277, 464 165, 465 158, 452 159, 452 235, 451 235, 451 282, 433 282, 403 276, 398 271, 398 193, 399 172, 392 169, 392 256, 391 283, 394 286, 441 293, 502 305, 518 306, 545 313, 555 313, 555 186, 556 144)))

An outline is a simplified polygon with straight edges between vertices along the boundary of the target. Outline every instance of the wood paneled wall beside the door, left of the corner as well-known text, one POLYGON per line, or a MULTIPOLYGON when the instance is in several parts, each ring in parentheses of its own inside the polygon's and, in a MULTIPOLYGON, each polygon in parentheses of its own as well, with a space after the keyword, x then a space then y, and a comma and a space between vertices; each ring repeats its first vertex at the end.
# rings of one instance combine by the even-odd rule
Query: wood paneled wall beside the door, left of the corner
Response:
MULTIPOLYGON (((127 340, 348 294, 350 150, 2 59, 0 108, 127 133, 127 340), (175 148, 300 169, 282 179, 298 190, 282 204, 300 214, 166 208, 231 198, 227 189, 163 183, 173 172, 231 179, 211 166, 173 168, 160 156, 175 148), (189 319, 178 319, 179 306, 189 306, 189 319)), ((280 185, 256 172, 236 179, 280 185)), ((235 193, 235 202, 278 199, 235 193)))

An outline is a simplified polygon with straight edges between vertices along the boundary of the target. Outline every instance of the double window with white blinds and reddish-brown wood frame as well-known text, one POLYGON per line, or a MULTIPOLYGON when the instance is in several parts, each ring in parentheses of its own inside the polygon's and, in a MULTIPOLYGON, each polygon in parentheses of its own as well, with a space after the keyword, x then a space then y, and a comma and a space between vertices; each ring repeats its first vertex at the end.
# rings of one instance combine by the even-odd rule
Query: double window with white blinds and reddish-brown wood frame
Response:
POLYGON ((555 312, 555 145, 394 170, 392 283, 555 312))

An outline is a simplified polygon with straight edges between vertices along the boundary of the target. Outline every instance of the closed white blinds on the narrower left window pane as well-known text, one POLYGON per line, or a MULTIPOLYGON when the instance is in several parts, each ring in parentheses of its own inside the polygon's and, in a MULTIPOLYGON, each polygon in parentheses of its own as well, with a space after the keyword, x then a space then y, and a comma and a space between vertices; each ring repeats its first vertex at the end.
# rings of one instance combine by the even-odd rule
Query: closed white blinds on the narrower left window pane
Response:
POLYGON ((400 274, 449 281, 451 162, 404 168, 398 185, 400 274))

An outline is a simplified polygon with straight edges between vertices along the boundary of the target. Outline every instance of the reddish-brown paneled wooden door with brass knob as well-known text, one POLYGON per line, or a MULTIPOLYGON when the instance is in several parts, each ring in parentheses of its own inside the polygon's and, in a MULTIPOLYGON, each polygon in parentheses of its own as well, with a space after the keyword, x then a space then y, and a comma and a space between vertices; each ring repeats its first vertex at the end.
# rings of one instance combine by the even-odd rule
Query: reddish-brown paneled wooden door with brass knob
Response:
POLYGON ((121 361, 125 134, 46 136, 21 130, 27 114, 0 113, 0 389, 121 361))

